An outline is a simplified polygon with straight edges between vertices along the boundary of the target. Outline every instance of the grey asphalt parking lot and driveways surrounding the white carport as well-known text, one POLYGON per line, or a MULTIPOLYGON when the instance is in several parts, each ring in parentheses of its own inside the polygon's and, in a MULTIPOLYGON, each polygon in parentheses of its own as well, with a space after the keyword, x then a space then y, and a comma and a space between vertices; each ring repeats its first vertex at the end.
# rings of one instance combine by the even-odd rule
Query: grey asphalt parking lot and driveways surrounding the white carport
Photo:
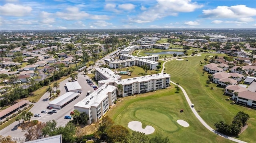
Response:
MULTIPOLYGON (((88 90, 94 91, 93 88, 86 83, 86 79, 88 79, 88 76, 83 76, 82 72, 78 73, 77 81, 79 82, 79 84, 82 87, 82 93, 80 94, 80 96, 78 98, 76 98, 74 101, 70 102, 64 108, 62 108, 60 110, 56 109, 57 113, 54 113, 52 115, 41 113, 42 110, 50 111, 50 110, 46 109, 46 107, 48 106, 48 102, 50 102, 49 101, 50 94, 45 93, 42 96, 42 98, 40 98, 40 100, 38 102, 34 103, 34 106, 30 110, 30 112, 32 112, 33 114, 40 114, 41 117, 39 117, 39 118, 32 117, 31 120, 37 119, 38 121, 46 122, 46 121, 50 121, 50 120, 54 119, 55 121, 58 122, 58 124, 57 124, 58 126, 65 125, 69 120, 64 119, 64 116, 70 115, 70 112, 74 110, 74 105, 86 97, 86 92, 88 90)), ((66 88, 65 88, 65 83, 68 82, 68 80, 70 80, 70 78, 67 78, 67 79, 63 80, 62 82, 60 82, 60 95, 63 95, 67 92, 66 88)), ((24 132, 22 132, 22 130, 20 128, 18 128, 18 125, 19 125, 19 122, 15 121, 8 127, 5 127, 4 129, 2 129, 1 135, 3 135, 3 136, 11 135, 12 137, 24 137, 24 132)))

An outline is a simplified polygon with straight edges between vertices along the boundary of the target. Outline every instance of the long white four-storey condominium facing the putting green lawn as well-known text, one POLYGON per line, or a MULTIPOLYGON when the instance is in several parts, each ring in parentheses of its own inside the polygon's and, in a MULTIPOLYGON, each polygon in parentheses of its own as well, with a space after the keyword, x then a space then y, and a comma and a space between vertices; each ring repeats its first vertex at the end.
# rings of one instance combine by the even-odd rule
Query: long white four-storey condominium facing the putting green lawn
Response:
MULTIPOLYGON (((109 83, 111 85, 111 83, 109 83)), ((159 73, 147 76, 139 76, 123 80, 116 80, 114 84, 121 84, 123 91, 122 97, 133 94, 145 93, 153 90, 159 90, 170 86, 170 74, 159 73)))

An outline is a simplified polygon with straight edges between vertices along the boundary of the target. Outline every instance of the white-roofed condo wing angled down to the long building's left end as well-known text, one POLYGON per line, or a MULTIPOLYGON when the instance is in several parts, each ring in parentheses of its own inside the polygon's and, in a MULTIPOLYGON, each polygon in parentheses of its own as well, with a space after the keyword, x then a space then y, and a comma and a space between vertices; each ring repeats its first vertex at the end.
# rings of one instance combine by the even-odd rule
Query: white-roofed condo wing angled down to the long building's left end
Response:
POLYGON ((122 77, 115 74, 108 68, 96 68, 95 69, 95 79, 96 80, 106 80, 106 79, 121 79, 122 77))

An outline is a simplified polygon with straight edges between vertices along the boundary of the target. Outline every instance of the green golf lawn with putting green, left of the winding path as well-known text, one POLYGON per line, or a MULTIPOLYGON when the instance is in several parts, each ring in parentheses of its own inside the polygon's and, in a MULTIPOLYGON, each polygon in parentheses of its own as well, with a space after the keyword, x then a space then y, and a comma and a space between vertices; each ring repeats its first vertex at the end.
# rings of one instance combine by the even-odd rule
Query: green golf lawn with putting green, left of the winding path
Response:
MULTIPOLYGON (((164 90, 120 98, 107 113, 114 123, 128 128, 130 121, 141 121, 142 127, 151 125, 156 135, 169 137, 173 143, 232 143, 208 131, 194 116, 182 92, 175 93, 174 85, 164 90), (184 112, 180 113, 180 109, 184 112), (182 127, 176 121, 183 119, 190 127, 182 127)), ((132 130, 130 130, 132 131, 132 130)))

